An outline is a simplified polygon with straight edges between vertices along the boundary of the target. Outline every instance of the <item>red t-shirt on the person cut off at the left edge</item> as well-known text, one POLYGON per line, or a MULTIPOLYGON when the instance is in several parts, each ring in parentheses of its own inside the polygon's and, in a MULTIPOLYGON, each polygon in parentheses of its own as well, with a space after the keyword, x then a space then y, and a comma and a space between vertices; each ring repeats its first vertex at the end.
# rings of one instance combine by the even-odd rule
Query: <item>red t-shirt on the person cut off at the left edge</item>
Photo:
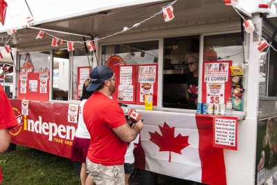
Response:
MULTIPOLYGON (((17 126, 17 119, 15 118, 10 101, 0 84, 0 129, 11 128, 13 126, 17 126)), ((1 168, 0 182, 2 182, 1 168)))

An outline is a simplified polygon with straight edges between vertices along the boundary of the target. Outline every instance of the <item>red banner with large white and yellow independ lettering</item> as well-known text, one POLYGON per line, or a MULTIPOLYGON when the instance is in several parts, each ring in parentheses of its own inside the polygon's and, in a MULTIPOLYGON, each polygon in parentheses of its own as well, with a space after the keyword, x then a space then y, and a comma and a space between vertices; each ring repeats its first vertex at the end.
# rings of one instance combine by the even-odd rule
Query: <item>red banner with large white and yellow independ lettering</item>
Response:
POLYGON ((9 131, 12 143, 71 157, 77 124, 67 121, 69 104, 28 101, 28 115, 24 115, 20 99, 10 99, 10 103, 18 122, 9 131))

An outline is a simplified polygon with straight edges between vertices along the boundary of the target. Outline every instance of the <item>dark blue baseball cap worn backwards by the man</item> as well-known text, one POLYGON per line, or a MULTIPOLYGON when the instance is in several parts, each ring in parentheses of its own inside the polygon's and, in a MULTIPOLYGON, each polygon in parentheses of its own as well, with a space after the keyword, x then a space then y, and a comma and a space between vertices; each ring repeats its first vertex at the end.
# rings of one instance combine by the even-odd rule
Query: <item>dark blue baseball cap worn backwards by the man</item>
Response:
POLYGON ((108 66, 97 66, 91 70, 89 76, 91 77, 91 83, 89 83, 87 91, 94 91, 98 89, 105 80, 114 76, 114 72, 108 66))

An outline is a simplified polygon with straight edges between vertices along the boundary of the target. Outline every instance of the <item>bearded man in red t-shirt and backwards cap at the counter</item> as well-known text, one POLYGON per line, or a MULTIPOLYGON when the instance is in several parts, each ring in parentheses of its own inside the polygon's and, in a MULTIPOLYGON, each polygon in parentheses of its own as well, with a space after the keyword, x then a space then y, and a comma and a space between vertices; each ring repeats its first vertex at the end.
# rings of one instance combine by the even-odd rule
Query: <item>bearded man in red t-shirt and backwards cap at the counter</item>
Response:
POLYGON ((123 110, 109 97, 115 92, 116 78, 108 66, 98 66, 90 73, 87 90, 94 91, 84 104, 83 117, 91 142, 87 153, 87 171, 96 184, 125 184, 124 156, 127 143, 143 128, 139 120, 130 128, 123 110))

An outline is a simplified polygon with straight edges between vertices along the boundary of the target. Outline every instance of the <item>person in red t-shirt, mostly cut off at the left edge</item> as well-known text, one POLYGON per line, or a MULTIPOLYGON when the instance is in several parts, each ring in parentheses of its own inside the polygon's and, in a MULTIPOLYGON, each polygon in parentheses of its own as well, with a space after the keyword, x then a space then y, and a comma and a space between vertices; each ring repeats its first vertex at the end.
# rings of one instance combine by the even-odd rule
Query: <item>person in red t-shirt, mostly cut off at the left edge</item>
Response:
MULTIPOLYGON (((17 126, 17 119, 15 118, 15 113, 12 110, 10 101, 0 84, 0 153, 7 150, 10 144, 8 128, 12 128, 13 126, 17 126)), ((1 182, 2 175, 0 168, 0 183, 1 182)))

